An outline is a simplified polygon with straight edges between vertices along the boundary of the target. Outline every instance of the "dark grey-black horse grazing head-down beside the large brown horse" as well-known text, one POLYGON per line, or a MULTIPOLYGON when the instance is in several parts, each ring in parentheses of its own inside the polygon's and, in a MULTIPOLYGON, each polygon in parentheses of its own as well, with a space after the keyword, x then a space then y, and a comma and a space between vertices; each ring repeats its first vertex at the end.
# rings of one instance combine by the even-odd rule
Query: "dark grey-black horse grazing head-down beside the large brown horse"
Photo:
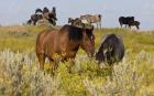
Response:
POLYGON ((109 65, 119 62, 124 56, 124 45, 122 40, 116 34, 108 34, 102 39, 101 45, 96 53, 99 63, 105 62, 109 65))

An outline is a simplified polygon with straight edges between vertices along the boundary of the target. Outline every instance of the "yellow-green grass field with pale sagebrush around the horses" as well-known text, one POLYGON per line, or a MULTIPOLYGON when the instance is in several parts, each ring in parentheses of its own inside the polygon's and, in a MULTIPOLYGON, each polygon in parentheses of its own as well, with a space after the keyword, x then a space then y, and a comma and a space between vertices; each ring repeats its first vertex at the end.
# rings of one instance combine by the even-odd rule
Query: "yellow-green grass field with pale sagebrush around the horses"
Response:
POLYGON ((35 56, 35 39, 44 29, 0 26, 0 96, 154 96, 153 31, 95 30, 96 51, 103 35, 122 38, 123 61, 112 67, 98 65, 79 50, 73 73, 68 73, 70 63, 66 62, 52 75, 48 62, 44 72, 37 68, 35 56))

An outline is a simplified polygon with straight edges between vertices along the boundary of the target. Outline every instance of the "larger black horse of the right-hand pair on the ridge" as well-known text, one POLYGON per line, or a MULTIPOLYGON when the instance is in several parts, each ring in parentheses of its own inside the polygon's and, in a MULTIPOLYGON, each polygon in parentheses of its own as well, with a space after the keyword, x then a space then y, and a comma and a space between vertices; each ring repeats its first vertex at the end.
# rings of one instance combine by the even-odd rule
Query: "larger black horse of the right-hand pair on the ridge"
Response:
POLYGON ((129 25, 130 22, 133 22, 134 21, 134 17, 120 17, 119 18, 119 23, 122 28, 123 24, 125 24, 125 28, 127 25, 129 25))

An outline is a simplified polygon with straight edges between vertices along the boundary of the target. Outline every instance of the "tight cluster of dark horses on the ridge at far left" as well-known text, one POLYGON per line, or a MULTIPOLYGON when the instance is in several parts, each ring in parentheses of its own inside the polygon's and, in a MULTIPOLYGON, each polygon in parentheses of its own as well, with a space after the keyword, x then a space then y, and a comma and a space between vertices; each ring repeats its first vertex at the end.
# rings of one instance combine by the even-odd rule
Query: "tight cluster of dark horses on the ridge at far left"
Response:
POLYGON ((32 14, 31 19, 26 23, 33 23, 34 25, 36 25, 36 22, 42 19, 46 19, 51 24, 56 25, 56 8, 53 7, 53 10, 51 12, 46 7, 43 9, 43 11, 41 9, 36 9, 35 14, 32 14))

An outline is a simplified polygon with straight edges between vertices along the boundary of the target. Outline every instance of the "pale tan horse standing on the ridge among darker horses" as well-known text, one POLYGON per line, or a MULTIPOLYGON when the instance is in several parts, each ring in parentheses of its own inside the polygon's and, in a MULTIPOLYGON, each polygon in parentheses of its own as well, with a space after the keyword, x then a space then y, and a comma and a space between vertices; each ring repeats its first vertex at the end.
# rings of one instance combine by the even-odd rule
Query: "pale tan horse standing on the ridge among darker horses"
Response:
POLYGON ((100 26, 101 29, 101 14, 96 14, 96 15, 85 14, 85 15, 80 15, 80 19, 87 20, 88 23, 97 23, 97 28, 100 26))

